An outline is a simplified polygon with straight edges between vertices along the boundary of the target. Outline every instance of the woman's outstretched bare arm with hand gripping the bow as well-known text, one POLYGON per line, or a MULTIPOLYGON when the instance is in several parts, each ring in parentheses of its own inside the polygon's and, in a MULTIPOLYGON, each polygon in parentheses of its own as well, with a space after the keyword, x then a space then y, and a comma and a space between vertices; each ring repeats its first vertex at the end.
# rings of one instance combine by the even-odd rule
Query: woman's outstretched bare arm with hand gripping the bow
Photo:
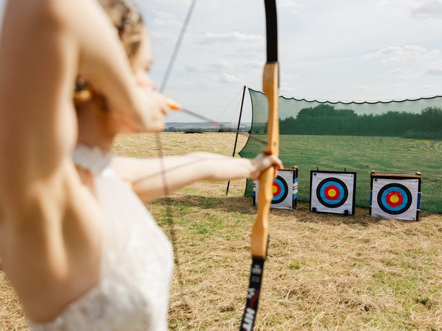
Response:
POLYGON ((263 154, 255 159, 234 159, 198 152, 163 159, 116 157, 113 160, 114 171, 119 177, 131 183, 135 193, 144 202, 164 197, 165 194, 195 181, 257 179, 260 173, 271 165, 276 169, 282 168, 282 163, 277 157, 263 154))

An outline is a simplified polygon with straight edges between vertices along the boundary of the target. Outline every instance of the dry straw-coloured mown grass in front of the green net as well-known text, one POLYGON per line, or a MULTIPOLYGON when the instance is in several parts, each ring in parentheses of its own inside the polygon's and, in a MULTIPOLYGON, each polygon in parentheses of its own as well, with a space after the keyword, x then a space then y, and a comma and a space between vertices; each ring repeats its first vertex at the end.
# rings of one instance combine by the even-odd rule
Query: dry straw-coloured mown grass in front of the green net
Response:
MULTIPOLYGON (((233 134, 162 134, 165 154, 206 150, 229 155, 233 134)), ((245 143, 245 137, 240 137, 245 143)), ((285 144, 285 142, 284 142, 285 144)), ((118 154, 156 156, 151 135, 122 137, 118 154)), ((370 169, 368 166, 367 171, 370 169)), ((238 330, 256 209, 244 181, 202 182, 147 207, 165 232, 173 216, 178 252, 170 330, 238 330)), ((442 330, 442 216, 419 222, 298 210, 271 212, 256 330, 442 330)), ((0 271, 0 330, 26 330, 0 271)))

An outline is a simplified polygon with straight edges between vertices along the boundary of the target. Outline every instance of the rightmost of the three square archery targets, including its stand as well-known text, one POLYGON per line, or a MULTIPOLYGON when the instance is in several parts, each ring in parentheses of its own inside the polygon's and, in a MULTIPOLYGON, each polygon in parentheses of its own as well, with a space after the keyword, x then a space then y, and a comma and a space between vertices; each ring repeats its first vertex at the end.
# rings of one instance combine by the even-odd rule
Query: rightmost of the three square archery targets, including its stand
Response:
POLYGON ((372 171, 369 214, 386 219, 418 221, 422 174, 372 171))

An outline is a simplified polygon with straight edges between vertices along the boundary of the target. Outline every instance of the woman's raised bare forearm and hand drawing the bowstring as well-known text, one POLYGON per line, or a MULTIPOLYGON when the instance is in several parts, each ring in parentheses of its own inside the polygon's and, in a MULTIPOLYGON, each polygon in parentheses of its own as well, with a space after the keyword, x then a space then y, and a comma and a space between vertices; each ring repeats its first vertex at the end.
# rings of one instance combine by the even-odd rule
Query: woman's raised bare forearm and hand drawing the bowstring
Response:
POLYGON ((139 86, 111 21, 97 0, 57 1, 79 43, 78 72, 106 97, 120 121, 134 130, 152 131, 153 112, 166 108, 153 90, 139 86), (90 22, 93 22, 91 25, 90 22))

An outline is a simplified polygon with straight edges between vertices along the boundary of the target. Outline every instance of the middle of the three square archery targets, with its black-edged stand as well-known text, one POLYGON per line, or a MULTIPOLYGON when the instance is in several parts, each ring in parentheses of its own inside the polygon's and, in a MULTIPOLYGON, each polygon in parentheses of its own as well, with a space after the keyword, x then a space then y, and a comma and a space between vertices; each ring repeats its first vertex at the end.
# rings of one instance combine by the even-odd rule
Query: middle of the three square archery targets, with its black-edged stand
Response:
POLYGON ((311 170, 310 211, 354 214, 356 172, 311 170))

